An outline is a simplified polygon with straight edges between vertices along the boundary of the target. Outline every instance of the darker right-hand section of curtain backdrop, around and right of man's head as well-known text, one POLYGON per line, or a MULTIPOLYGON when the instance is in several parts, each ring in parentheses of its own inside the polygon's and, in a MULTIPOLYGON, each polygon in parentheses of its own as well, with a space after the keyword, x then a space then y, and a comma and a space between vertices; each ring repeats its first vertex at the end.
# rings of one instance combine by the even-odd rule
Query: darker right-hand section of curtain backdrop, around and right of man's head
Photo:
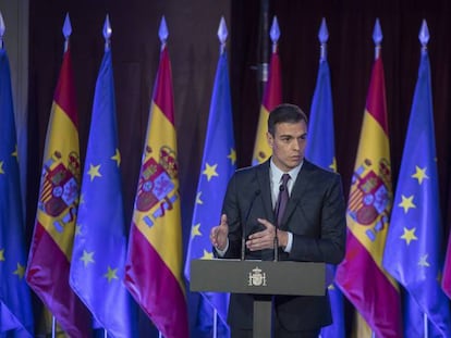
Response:
MULTIPOLYGON (((240 165, 247 165, 252 158, 260 104, 254 71, 254 65, 261 62, 258 50, 261 42, 257 39, 259 27, 256 26, 258 8, 256 1, 234 1, 232 5, 232 90, 240 165)), ((346 192, 374 63, 375 21, 379 17, 383 34, 382 59, 394 183, 419 65, 418 33, 423 18, 427 21, 440 200, 447 217, 451 174, 451 137, 448 134, 451 127, 451 3, 446 0, 279 0, 270 1, 270 22, 273 15, 277 15, 281 30, 279 53, 283 99, 298 104, 307 113, 318 71, 318 30, 322 17, 327 21, 337 161, 346 192)))

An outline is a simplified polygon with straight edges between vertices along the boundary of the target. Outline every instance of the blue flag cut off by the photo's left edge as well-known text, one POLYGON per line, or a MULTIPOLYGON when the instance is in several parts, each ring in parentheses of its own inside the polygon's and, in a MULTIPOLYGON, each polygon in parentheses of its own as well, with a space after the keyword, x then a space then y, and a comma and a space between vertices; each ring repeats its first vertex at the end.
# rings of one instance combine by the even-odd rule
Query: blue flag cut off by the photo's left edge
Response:
POLYGON ((0 47, 0 336, 33 336, 10 62, 0 47))

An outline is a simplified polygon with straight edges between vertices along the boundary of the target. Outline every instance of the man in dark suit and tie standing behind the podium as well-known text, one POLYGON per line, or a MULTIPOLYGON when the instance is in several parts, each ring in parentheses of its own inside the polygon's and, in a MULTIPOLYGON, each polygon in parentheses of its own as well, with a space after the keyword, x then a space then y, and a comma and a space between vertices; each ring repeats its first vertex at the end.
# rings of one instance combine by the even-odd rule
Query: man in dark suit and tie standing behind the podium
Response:
MULTIPOLYGON (((244 227, 246 260, 272 260, 276 245, 281 261, 342 261, 346 223, 341 178, 304 159, 306 136, 307 117, 298 107, 285 103, 270 112, 267 140, 272 155, 257 166, 236 171, 229 181, 220 225, 210 233, 218 256, 241 256, 244 227), (283 188, 282 177, 288 179, 283 188), (284 190, 288 203, 277 224, 279 193, 284 190)), ((232 338, 252 337, 254 297, 231 296, 232 338)), ((276 338, 317 338, 320 328, 332 323, 327 292, 275 296, 273 309, 276 338)))

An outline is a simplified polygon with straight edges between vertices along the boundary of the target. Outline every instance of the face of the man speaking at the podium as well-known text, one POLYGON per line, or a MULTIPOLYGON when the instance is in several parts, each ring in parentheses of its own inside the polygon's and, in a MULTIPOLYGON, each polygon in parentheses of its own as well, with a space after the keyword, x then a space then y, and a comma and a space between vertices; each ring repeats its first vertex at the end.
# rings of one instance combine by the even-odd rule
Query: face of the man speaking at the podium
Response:
POLYGON ((275 126, 275 136, 270 133, 266 136, 272 149, 272 161, 281 171, 291 171, 304 159, 307 138, 305 121, 278 123, 275 126))

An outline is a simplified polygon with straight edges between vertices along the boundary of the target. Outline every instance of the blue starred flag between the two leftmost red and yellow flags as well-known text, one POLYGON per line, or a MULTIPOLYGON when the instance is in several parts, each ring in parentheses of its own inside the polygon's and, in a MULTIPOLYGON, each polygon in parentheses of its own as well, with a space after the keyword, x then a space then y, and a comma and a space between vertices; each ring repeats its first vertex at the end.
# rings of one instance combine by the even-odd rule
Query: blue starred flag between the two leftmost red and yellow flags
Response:
POLYGON ((133 337, 134 308, 122 280, 126 237, 111 50, 97 77, 70 284, 111 337, 133 337))

